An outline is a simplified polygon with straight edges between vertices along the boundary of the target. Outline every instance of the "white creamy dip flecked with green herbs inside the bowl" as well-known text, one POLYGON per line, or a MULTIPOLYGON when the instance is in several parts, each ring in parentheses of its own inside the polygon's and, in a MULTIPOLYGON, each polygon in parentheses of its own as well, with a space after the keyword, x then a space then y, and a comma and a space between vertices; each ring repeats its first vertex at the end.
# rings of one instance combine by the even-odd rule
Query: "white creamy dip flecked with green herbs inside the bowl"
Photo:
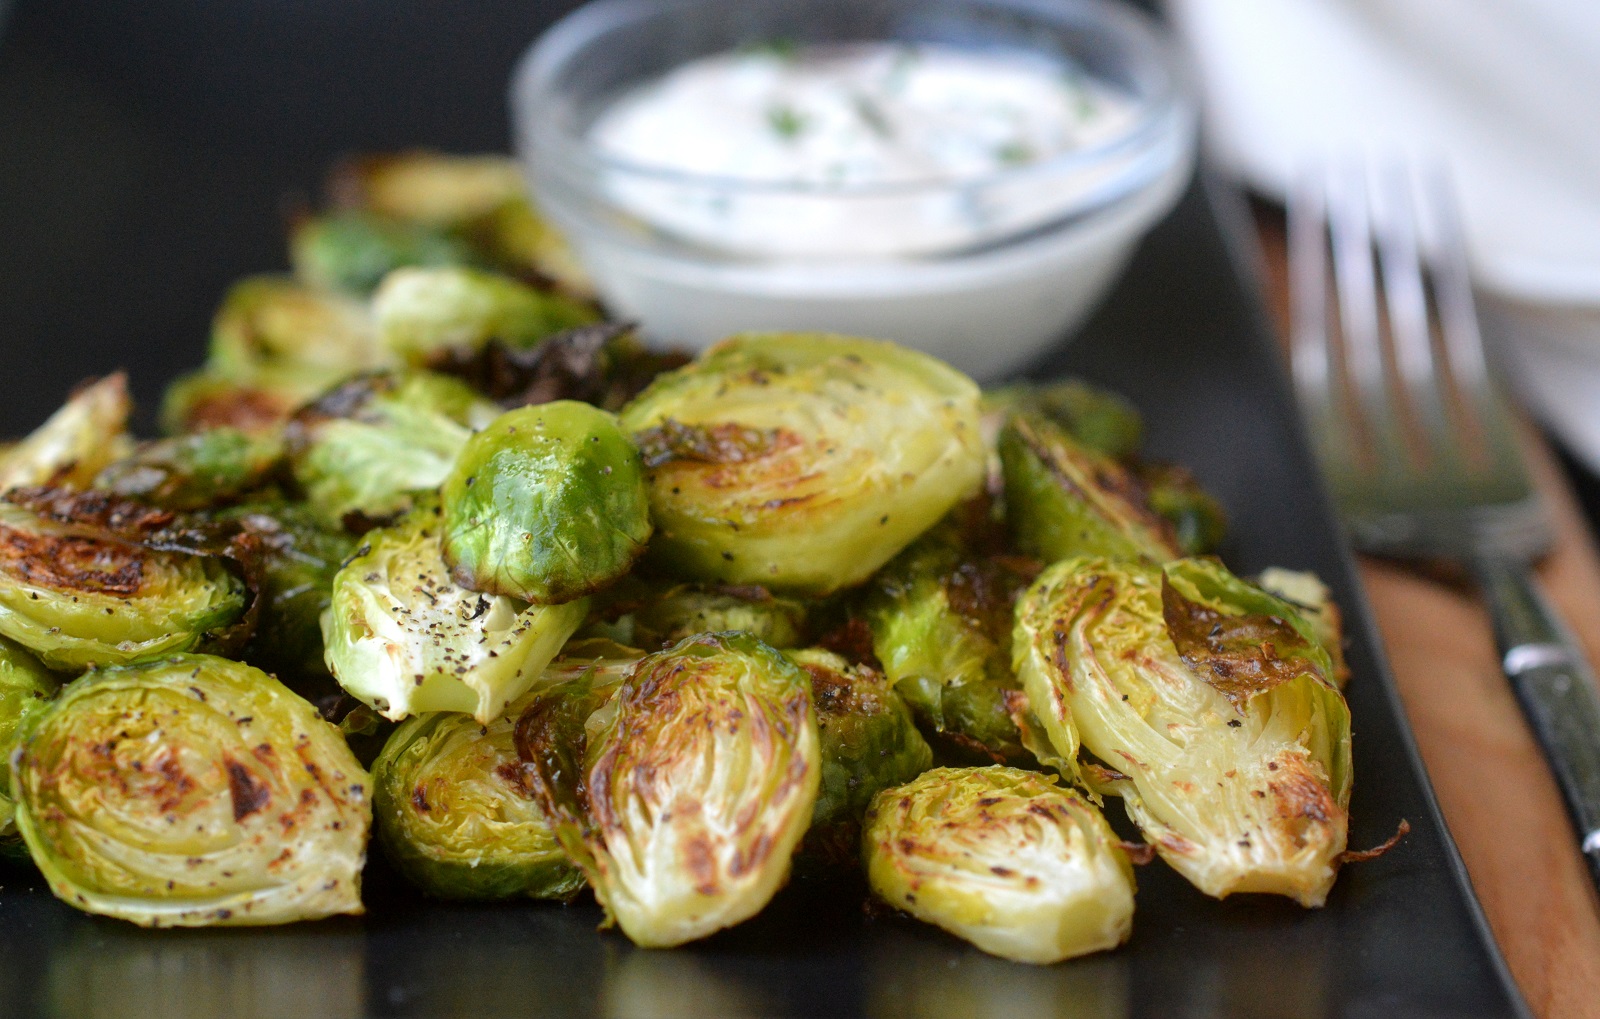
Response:
POLYGON ((982 246, 1115 176, 1072 152, 1134 102, 1022 50, 858 43, 691 61, 606 107, 602 182, 645 226, 730 254, 885 258, 982 246))

